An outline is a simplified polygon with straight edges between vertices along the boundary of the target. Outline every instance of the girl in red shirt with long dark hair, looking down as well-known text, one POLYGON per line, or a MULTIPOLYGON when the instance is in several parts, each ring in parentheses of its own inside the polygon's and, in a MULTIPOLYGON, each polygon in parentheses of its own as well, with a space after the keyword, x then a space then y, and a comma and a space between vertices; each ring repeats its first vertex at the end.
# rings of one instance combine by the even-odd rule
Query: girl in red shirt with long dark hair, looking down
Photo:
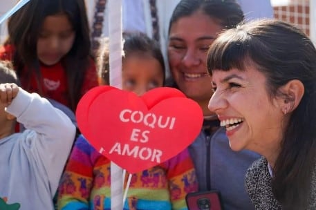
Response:
POLYGON ((12 15, 8 32, 0 59, 12 60, 29 92, 75 111, 82 95, 98 85, 84 0, 32 0, 12 15))

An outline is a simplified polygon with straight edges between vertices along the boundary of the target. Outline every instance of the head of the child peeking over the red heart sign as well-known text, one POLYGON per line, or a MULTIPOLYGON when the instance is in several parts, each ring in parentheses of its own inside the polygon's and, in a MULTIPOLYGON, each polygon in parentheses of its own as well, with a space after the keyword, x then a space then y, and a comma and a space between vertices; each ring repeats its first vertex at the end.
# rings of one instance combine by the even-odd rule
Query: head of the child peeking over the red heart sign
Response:
MULTIPOLYGON (((97 58, 100 84, 109 84, 108 46, 109 39, 104 38, 97 58)), ((123 90, 130 90, 138 95, 165 84, 165 64, 156 41, 138 32, 124 34, 122 80, 123 90)))

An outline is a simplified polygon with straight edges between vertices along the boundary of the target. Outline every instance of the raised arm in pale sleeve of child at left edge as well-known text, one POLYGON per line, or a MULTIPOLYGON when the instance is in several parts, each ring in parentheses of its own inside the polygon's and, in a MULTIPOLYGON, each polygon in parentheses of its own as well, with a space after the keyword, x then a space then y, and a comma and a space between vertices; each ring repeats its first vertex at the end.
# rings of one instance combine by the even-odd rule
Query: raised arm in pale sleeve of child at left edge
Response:
POLYGON ((19 142, 29 155, 30 167, 48 184, 52 198, 75 138, 71 120, 54 108, 47 99, 28 93, 15 84, 0 84, 1 102, 6 111, 28 129, 26 139, 19 142))

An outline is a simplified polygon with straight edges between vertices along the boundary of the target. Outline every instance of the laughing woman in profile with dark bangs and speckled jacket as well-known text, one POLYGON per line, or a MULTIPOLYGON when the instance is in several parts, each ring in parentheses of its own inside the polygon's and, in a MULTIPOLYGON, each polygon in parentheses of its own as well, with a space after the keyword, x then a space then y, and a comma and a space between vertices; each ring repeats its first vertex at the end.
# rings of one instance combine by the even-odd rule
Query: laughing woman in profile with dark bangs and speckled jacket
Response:
POLYGON ((246 175, 256 209, 316 208, 315 57, 301 30, 276 20, 227 30, 208 52, 210 111, 233 150, 264 156, 246 175))

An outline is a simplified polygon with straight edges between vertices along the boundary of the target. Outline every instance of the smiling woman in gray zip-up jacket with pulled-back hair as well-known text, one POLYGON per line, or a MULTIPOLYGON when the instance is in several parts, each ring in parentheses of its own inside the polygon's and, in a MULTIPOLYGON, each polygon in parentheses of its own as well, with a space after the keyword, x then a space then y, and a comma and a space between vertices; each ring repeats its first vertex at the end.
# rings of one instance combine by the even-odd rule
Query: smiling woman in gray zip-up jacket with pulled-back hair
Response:
POLYGON ((220 191, 226 210, 254 209, 245 192, 244 177, 259 155, 232 151, 225 129, 219 128, 219 120, 207 108, 212 78, 207 74, 206 59, 207 49, 219 32, 241 21, 243 12, 234 0, 182 0, 169 25, 168 60, 173 86, 194 99, 204 115, 201 133, 189 146, 199 191, 220 191))

